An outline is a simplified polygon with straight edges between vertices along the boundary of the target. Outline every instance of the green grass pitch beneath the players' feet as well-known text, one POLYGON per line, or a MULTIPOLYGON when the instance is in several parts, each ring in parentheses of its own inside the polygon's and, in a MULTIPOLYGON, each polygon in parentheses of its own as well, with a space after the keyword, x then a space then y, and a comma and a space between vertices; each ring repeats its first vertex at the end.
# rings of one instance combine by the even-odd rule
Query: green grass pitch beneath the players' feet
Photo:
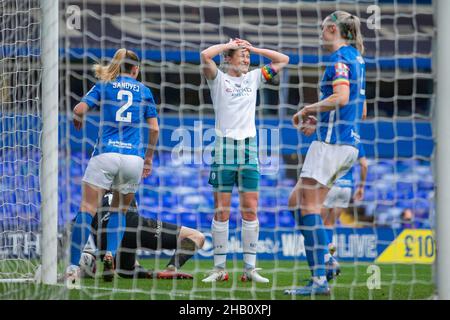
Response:
MULTIPOLYGON (((143 259, 147 268, 161 270, 167 260, 143 259)), ((35 284, 2 284, 0 299, 183 299, 183 300, 290 300, 311 299, 286 296, 284 289, 300 286, 308 281, 307 265, 300 261, 258 261, 263 268, 261 274, 270 279, 268 284, 243 283, 242 261, 228 261, 230 279, 214 284, 201 280, 208 275, 212 261, 192 260, 182 269, 194 275, 194 280, 148 280, 122 279, 116 277, 112 283, 103 282, 100 273, 95 279, 83 279, 80 290, 66 290, 58 286, 35 284)), ((330 282, 331 296, 316 296, 312 299, 368 300, 368 299, 431 299, 434 295, 431 265, 380 264, 380 289, 369 290, 367 280, 368 263, 341 263, 342 274, 330 282)), ((101 266, 98 266, 101 270, 101 266)))

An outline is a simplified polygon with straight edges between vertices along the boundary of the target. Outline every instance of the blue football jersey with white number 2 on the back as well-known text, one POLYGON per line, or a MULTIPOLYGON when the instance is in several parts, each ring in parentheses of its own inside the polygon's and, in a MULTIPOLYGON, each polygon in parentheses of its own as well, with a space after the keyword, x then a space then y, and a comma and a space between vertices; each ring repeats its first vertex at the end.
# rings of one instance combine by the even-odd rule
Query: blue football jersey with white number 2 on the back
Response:
POLYGON ((157 116, 148 87, 129 76, 97 82, 81 99, 100 109, 98 139, 93 155, 115 152, 145 157, 143 129, 147 118, 157 116))

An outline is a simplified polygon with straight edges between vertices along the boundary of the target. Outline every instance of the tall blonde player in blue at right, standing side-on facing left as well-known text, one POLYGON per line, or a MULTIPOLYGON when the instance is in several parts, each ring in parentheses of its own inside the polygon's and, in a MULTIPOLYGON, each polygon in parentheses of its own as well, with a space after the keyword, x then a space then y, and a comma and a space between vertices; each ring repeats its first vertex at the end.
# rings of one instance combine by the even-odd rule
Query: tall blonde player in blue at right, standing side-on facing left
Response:
POLYGON ((320 83, 320 101, 302 108, 293 124, 304 134, 317 132, 303 163, 297 185, 289 197, 305 239, 312 279, 308 285, 286 294, 328 295, 325 254, 328 239, 320 215, 323 202, 336 179, 343 176, 358 156, 360 110, 365 103, 365 65, 360 20, 336 11, 322 23, 323 47, 331 53, 320 83), (314 128, 314 129, 312 129, 314 128))

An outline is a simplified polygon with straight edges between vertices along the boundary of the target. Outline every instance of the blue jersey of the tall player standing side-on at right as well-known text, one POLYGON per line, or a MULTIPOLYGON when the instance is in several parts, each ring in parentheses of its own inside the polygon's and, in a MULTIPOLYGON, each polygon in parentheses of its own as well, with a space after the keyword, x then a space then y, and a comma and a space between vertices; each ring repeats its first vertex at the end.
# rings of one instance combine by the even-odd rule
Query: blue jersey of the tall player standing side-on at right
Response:
POLYGON ((366 100, 366 80, 364 59, 352 46, 343 46, 331 55, 320 83, 320 99, 331 96, 336 85, 349 86, 349 101, 337 110, 319 114, 317 139, 330 144, 356 146, 360 140, 357 123, 366 100))

